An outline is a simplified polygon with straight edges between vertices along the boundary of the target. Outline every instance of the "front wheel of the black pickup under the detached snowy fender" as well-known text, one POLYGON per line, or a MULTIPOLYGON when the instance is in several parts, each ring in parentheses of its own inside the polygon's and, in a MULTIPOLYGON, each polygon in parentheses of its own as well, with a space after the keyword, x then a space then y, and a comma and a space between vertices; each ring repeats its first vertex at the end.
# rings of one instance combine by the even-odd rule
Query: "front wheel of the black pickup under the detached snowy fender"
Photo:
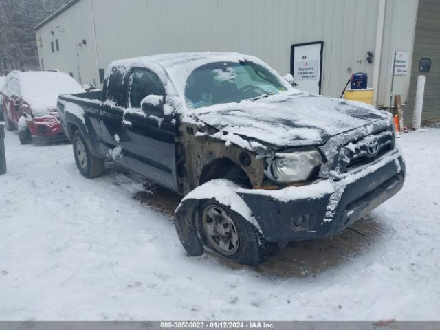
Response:
POLYGON ((197 213, 200 236, 210 250, 248 265, 259 265, 269 256, 272 243, 267 242, 252 223, 229 206, 200 200, 197 213), (217 220, 214 219, 216 213, 217 220))

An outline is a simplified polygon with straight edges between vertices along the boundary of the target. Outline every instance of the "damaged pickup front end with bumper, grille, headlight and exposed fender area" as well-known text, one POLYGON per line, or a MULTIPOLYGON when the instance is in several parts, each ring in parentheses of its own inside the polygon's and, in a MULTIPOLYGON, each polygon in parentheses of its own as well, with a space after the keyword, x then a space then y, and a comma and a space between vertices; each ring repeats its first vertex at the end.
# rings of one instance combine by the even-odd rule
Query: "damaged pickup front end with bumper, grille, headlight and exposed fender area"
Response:
MULTIPOLYGON (((199 133, 195 138, 203 139, 192 146, 199 155, 231 157, 250 175, 252 187, 237 187, 234 193, 269 242, 338 234, 404 184, 404 160, 386 120, 333 136, 322 146, 278 151, 259 142, 252 147, 225 133, 199 133), (240 162, 243 152, 249 155, 248 166, 240 162)), ((195 159, 202 163, 203 157, 195 159)), ((182 208, 177 214, 184 212, 182 208)))

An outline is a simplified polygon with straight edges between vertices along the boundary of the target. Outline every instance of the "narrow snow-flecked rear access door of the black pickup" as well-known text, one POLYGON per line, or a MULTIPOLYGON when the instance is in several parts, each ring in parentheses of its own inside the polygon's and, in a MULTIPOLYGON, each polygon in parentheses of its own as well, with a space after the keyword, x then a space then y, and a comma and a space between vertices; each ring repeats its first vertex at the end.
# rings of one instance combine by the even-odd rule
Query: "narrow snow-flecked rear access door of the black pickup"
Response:
POLYGON ((114 67, 102 90, 104 100, 100 109, 100 128, 104 151, 113 162, 126 166, 124 148, 124 69, 114 67))

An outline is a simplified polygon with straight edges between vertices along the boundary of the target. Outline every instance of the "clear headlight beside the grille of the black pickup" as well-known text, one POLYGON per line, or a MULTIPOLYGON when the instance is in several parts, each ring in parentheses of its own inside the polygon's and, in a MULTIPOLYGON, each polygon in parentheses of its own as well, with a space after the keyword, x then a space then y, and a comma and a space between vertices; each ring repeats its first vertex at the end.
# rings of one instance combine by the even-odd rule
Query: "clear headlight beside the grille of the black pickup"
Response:
POLYGON ((294 153, 276 153, 265 171, 267 177, 280 184, 307 181, 322 157, 316 149, 294 153))

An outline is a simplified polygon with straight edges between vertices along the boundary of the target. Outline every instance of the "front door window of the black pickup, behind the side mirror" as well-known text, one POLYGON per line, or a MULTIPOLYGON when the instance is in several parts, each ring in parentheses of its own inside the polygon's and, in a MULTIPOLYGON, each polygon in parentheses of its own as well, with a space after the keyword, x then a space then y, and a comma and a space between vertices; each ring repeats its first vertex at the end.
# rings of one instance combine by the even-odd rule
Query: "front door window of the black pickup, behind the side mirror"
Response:
POLYGON ((146 69, 133 69, 129 83, 130 106, 140 108, 140 102, 147 95, 165 95, 165 88, 159 76, 146 69))

